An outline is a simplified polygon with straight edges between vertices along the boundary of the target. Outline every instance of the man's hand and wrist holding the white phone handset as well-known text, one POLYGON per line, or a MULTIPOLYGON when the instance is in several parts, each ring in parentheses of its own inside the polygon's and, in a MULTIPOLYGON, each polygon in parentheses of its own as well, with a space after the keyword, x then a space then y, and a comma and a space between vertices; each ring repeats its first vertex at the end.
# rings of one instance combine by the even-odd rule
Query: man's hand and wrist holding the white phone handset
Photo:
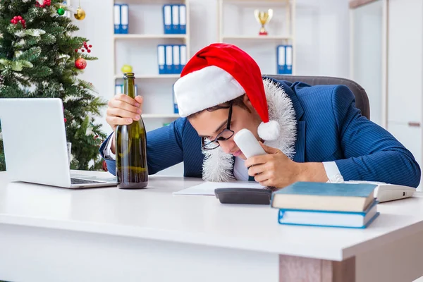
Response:
POLYGON ((296 163, 281 150, 260 142, 267 154, 245 161, 248 175, 254 176, 262 186, 283 188, 297 181, 326 182, 326 171, 321 163, 296 163))

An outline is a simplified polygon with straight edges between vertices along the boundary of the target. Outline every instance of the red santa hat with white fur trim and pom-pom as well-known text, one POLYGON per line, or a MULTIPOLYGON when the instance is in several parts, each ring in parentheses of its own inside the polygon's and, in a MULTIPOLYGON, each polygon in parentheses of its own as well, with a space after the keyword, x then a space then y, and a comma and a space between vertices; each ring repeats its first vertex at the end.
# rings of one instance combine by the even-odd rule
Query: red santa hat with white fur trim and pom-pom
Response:
POLYGON ((247 94, 262 118, 259 137, 278 138, 279 124, 269 121, 260 68, 250 55, 234 45, 216 43, 198 51, 183 68, 174 90, 182 117, 247 94))

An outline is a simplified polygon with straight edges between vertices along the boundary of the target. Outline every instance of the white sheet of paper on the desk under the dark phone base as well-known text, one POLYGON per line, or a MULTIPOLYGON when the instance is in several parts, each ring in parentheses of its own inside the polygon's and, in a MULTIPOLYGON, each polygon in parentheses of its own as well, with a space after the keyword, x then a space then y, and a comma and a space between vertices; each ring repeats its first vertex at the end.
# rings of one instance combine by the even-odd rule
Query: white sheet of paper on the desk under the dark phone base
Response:
POLYGON ((234 181, 234 182, 204 182, 190 188, 185 188, 173 195, 213 195, 216 188, 264 188, 259 183, 252 181, 234 181))

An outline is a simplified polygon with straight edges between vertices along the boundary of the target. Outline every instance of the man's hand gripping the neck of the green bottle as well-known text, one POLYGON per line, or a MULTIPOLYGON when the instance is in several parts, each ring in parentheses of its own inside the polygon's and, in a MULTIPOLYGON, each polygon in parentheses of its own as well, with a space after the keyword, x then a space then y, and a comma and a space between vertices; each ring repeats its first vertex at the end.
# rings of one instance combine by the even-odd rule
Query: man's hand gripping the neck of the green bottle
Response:
MULTIPOLYGON (((138 121, 142 114, 141 96, 136 96, 135 99, 125 94, 116 94, 115 97, 109 100, 109 107, 107 108, 106 121, 111 128, 116 131, 118 125, 128 125, 133 121, 138 121)), ((111 152, 115 152, 115 139, 111 140, 111 152)))

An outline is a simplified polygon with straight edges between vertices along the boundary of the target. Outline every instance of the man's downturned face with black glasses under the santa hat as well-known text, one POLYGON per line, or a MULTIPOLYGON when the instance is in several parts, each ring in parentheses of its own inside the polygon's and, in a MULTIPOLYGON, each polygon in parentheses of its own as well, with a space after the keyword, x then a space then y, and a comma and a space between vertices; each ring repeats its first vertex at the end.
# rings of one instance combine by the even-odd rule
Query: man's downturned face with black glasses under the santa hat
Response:
MULTIPOLYGON (((257 112, 251 106, 250 101, 246 99, 245 105, 250 109, 243 109, 240 106, 233 105, 230 129, 236 134, 239 130, 247 128, 257 140, 257 128, 261 122, 257 112)), ((198 135, 207 137, 208 140, 214 140, 219 133, 227 128, 229 109, 217 109, 215 111, 202 111, 197 116, 190 118, 192 127, 197 130, 198 135)), ((234 135, 235 135, 234 134, 234 135)), ((238 146, 233 141, 233 136, 225 141, 219 141, 223 152, 233 154, 235 157, 246 159, 238 146)))

